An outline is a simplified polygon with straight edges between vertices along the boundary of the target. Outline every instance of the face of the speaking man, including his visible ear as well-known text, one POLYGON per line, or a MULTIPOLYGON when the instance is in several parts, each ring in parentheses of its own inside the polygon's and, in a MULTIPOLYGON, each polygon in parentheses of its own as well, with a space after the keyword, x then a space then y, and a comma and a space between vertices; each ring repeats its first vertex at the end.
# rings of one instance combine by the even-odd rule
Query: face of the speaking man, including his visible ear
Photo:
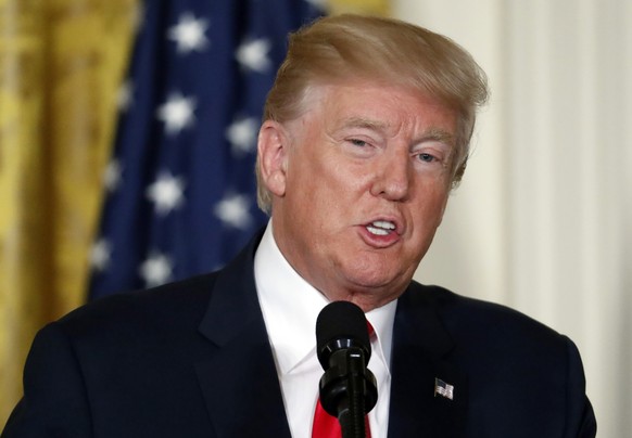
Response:
POLYGON ((275 240, 330 300, 368 311, 404 292, 441 223, 456 116, 366 82, 323 86, 308 107, 260 133, 275 240))

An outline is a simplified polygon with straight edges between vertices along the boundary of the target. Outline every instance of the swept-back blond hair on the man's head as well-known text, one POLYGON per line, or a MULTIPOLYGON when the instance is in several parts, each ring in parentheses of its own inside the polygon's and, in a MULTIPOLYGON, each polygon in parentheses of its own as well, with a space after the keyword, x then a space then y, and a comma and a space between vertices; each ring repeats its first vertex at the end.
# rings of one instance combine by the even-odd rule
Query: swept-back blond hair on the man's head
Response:
MULTIPOLYGON (((323 17, 292 34, 264 107, 264 120, 285 123, 306 108, 308 90, 333 81, 368 79, 418 90, 458 115, 452 183, 458 184, 469 155, 477 110, 486 102, 484 72, 446 37, 393 18, 323 17)), ((257 203, 269 212, 271 194, 261 181, 257 203)))

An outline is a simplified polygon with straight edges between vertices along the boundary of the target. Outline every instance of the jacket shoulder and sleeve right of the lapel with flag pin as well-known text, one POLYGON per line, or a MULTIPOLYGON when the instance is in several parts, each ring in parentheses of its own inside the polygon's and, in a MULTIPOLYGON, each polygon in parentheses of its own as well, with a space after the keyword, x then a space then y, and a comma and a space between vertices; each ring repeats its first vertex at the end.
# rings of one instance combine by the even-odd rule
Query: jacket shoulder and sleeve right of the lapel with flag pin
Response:
POLYGON ((438 361, 464 376, 469 427, 485 430, 472 435, 594 436, 583 365, 568 337, 509 307, 442 287, 415 284, 402 298, 407 313, 425 309, 418 313, 438 320, 432 336, 444 331, 450 338, 438 361))

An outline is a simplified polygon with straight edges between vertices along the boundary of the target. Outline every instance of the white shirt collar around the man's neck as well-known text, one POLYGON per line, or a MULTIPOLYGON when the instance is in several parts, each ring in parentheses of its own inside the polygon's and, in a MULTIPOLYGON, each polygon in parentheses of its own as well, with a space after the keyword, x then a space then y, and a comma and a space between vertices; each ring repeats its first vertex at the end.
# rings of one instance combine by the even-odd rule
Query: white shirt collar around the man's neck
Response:
MULTIPOLYGON (((316 349, 316 319, 329 300, 307 283, 281 254, 271 221, 254 257, 254 276, 278 371, 289 373, 316 349)), ((396 300, 366 313, 377 335, 371 360, 390 364, 396 300), (376 348, 378 351, 376 351, 376 348)))

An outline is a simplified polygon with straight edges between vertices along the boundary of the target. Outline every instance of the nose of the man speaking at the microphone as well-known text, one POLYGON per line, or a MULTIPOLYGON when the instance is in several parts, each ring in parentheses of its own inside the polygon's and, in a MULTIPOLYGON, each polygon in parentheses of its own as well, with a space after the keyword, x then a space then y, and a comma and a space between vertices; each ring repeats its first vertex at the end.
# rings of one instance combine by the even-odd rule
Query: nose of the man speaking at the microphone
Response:
POLYGON ((409 196, 413 178, 408 153, 393 151, 377 162, 371 194, 389 201, 405 201, 409 196))

